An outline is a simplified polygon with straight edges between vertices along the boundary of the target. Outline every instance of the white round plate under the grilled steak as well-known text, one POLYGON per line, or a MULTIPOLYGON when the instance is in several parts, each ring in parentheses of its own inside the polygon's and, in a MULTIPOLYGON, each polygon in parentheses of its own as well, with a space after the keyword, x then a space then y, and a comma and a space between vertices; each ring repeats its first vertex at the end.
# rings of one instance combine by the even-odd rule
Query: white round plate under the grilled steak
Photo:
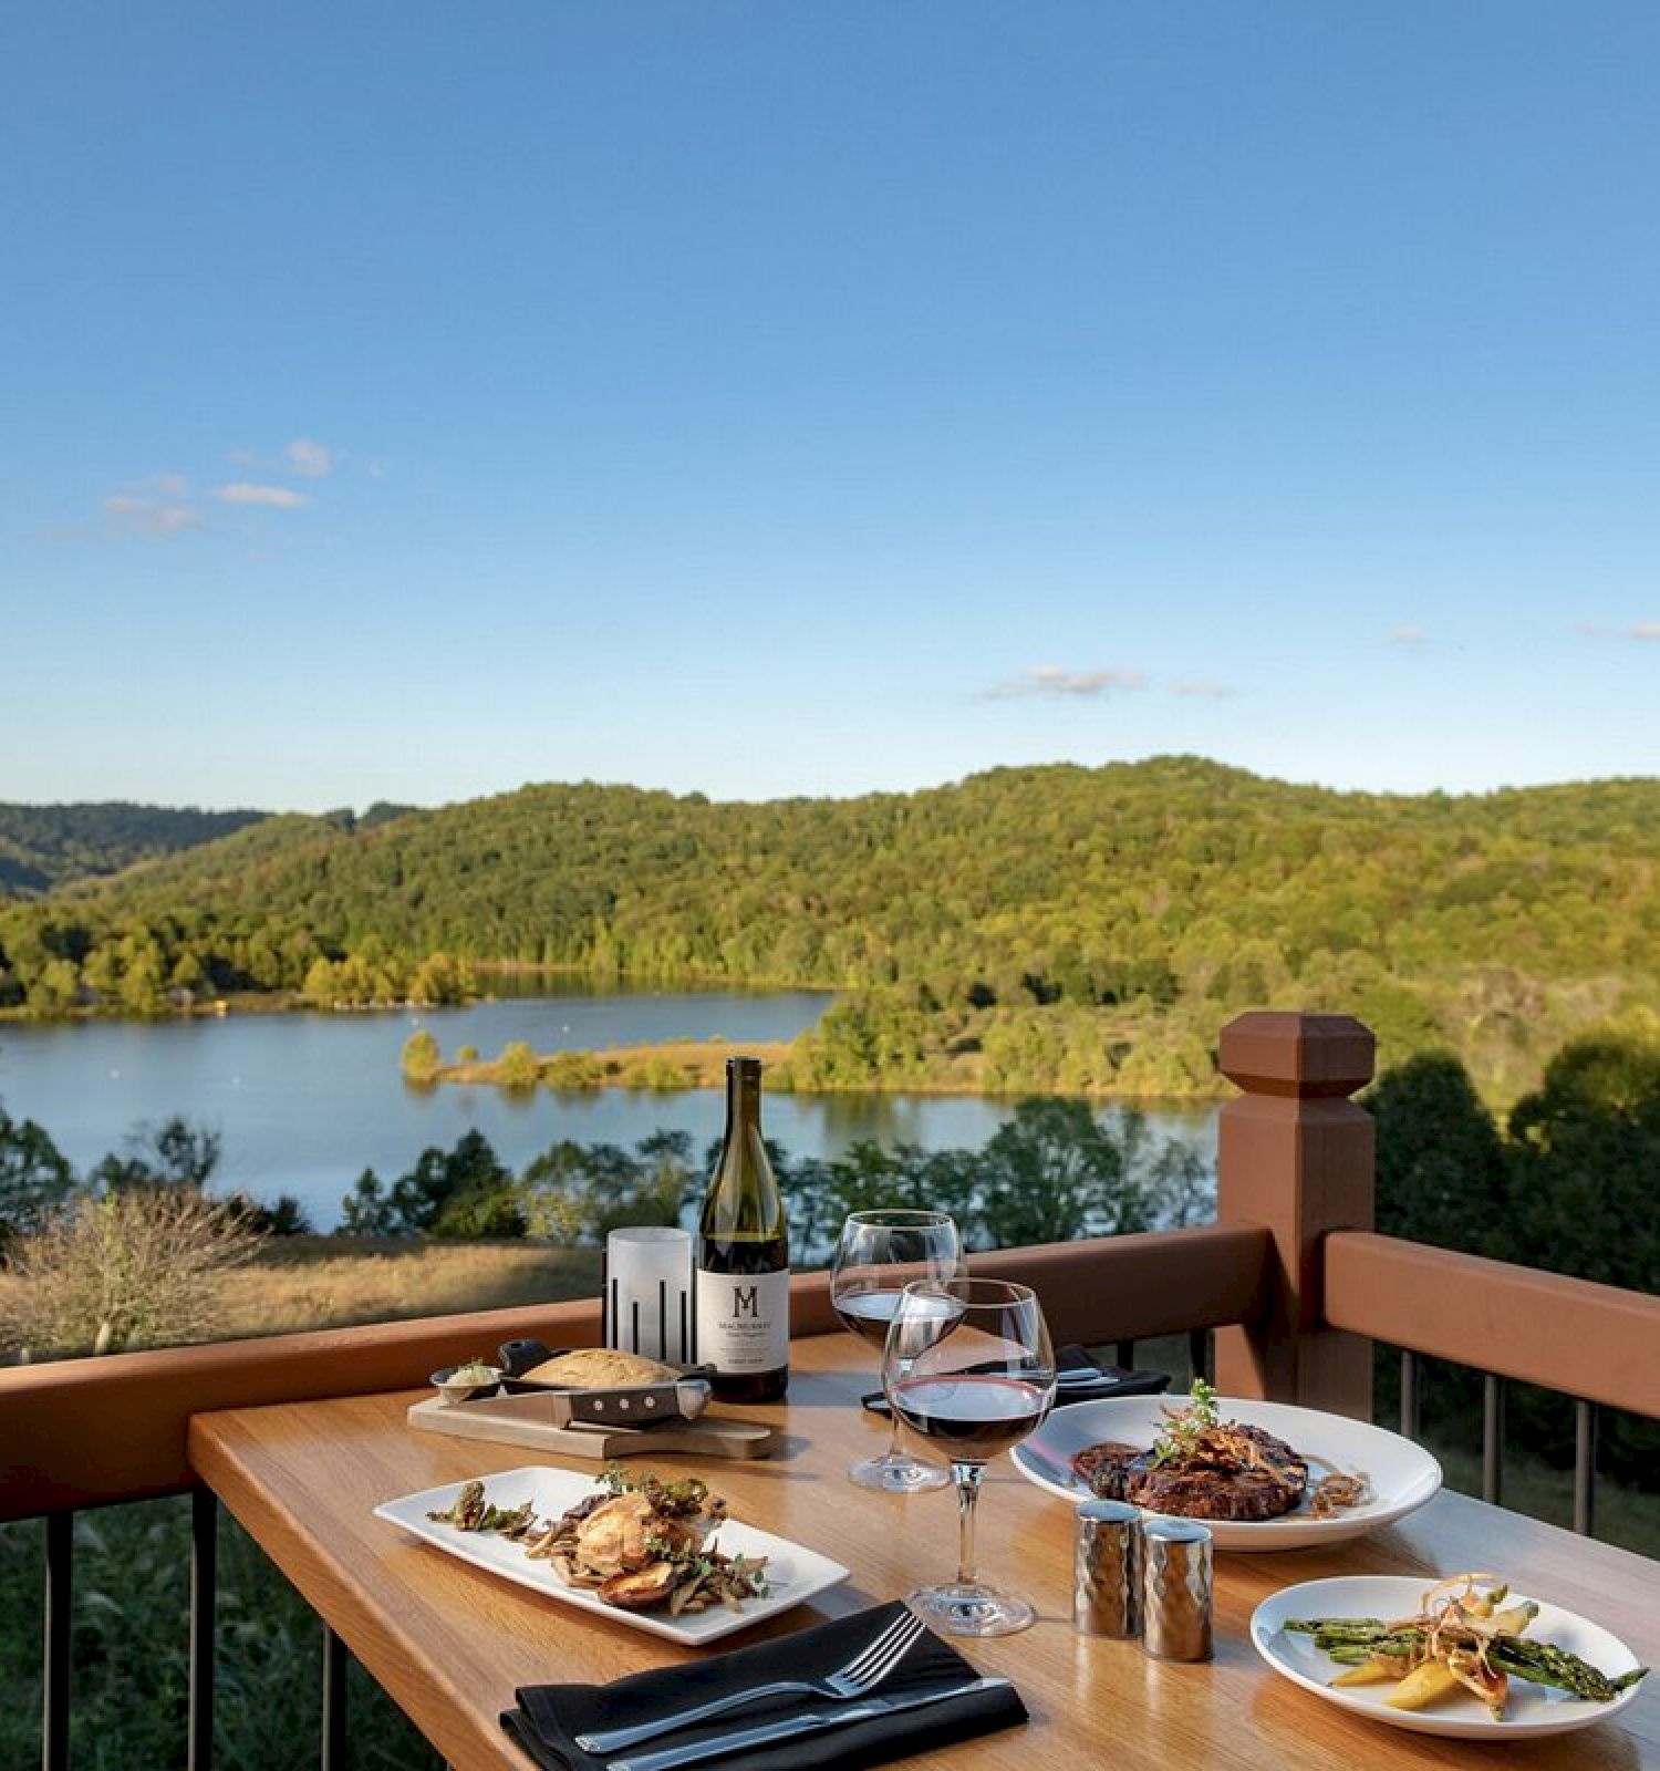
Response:
MULTIPOLYGON (((1014 1447, 1014 1466, 1064 1500, 1088 1500, 1088 1488, 1072 1475, 1072 1458, 1088 1445, 1117 1440, 1152 1445, 1164 1429, 1164 1410, 1179 1406, 1170 1396, 1108 1396, 1099 1403, 1057 1408, 1025 1442, 1014 1447)), ((1308 1459, 1310 1488, 1322 1475, 1364 1475, 1372 1498, 1320 1520, 1308 1500, 1278 1520, 1205 1520, 1218 1550, 1306 1550, 1363 1537, 1421 1507, 1441 1488, 1441 1465, 1412 1440, 1375 1427, 1366 1420, 1327 1415, 1318 1408, 1290 1403, 1251 1403, 1219 1396, 1223 1420, 1264 1427, 1308 1459)))

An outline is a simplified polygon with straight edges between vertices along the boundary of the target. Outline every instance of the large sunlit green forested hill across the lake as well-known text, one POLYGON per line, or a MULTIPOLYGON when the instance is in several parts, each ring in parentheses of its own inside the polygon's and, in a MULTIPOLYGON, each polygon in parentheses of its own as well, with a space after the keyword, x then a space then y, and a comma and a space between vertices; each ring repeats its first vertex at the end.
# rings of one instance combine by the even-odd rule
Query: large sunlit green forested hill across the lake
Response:
POLYGON ((1327 1006, 1504 1091, 1660 1006, 1660 781, 1366 795, 1159 758, 849 800, 527 786, 273 818, 14 907, 0 947, 41 1011, 120 1001, 134 967, 368 1001, 437 953, 858 992, 803 1059, 819 1084, 956 1056, 984 1086, 1187 1089, 1228 1013, 1327 1006))

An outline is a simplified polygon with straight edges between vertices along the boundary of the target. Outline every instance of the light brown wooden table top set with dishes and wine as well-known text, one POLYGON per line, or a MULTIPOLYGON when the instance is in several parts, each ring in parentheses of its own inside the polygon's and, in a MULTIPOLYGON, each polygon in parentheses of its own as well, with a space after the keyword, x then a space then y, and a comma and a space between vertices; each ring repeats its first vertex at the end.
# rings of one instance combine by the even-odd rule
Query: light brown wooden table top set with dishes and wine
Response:
MULTIPOLYGON (((756 1631, 782 1635, 904 1594, 956 1571, 950 1491, 871 1495, 844 1479, 880 1449, 883 1422, 858 1410, 872 1387, 871 1355, 851 1337, 798 1341, 789 1403, 752 1410, 784 1429, 756 1463, 658 1458, 665 1473, 697 1470, 734 1518, 811 1544, 848 1564, 851 1580, 756 1631)), ((372 1518, 382 1500, 543 1459, 522 1447, 411 1431, 414 1397, 359 1396, 196 1415, 191 1463, 315 1610, 345 1638, 457 1771, 526 1771, 499 1714, 520 1684, 607 1681, 688 1652, 626 1624, 473 1569, 372 1518)), ((1115 1771, 1354 1771, 1495 1764, 1494 1748, 1407 1734, 1340 1711, 1271 1674, 1248 1640, 1258 1601, 1329 1574, 1439 1574, 1495 1569, 1518 1590, 1598 1619, 1660 1665, 1660 1566, 1556 1527, 1439 1495, 1400 1525, 1331 1550, 1218 1555, 1216 1659, 1168 1665, 1134 1642, 1074 1633, 1071 1509, 1023 1481, 1007 1458, 986 1479, 979 1571, 1039 1608, 1032 1629, 970 1642, 984 1672, 1007 1674, 1032 1711, 1019 1737, 989 1736, 906 1760, 915 1767, 993 1771, 1011 1750, 1034 1771, 1078 1771, 1110 1750, 1115 1771)), ((1660 1767, 1660 1674, 1619 1718, 1572 1736, 1518 1743, 1527 1771, 1660 1767)))

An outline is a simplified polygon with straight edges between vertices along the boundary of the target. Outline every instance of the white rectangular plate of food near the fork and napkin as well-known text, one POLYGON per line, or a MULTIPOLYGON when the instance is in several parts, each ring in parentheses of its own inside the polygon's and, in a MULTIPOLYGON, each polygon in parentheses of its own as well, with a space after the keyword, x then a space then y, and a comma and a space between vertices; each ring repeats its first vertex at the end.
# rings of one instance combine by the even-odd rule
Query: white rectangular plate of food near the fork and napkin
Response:
MULTIPOLYGON (((529 1500, 536 1507, 538 1518, 559 1518, 579 1500, 586 1500, 598 1484, 580 1470, 549 1470, 531 1465, 524 1470, 504 1470, 501 1475, 480 1477, 485 1495, 492 1505, 519 1507, 529 1500)), ((375 1518, 412 1532, 439 1550, 462 1562, 471 1562, 503 1580, 517 1582, 533 1592, 543 1592, 561 1605, 572 1605, 579 1612, 595 1612, 614 1624, 630 1624, 634 1629, 646 1629, 653 1636, 665 1636, 685 1647, 701 1647, 704 1642, 719 1642, 738 1629, 749 1629, 763 1617, 775 1617, 793 1605, 811 1599, 814 1594, 834 1587, 848 1578, 841 1562, 809 1550, 805 1544, 791 1543, 788 1537, 773 1537, 772 1532, 743 1525, 740 1520, 727 1520, 715 1534, 715 1543, 727 1555, 766 1557, 768 1592, 759 1599, 745 1599, 736 1612, 724 1605, 708 1612, 696 1612, 692 1617, 671 1617, 667 1612, 625 1612, 621 1606, 607 1605, 598 1594, 582 1587, 566 1587, 547 1562, 533 1562, 517 1543, 497 1537, 494 1532, 462 1532, 453 1525, 441 1525, 430 1520, 428 1512, 444 1512, 455 1504, 455 1496, 465 1482, 450 1482, 444 1488, 428 1488, 419 1495, 403 1495, 402 1500, 388 1500, 375 1507, 375 1518)))

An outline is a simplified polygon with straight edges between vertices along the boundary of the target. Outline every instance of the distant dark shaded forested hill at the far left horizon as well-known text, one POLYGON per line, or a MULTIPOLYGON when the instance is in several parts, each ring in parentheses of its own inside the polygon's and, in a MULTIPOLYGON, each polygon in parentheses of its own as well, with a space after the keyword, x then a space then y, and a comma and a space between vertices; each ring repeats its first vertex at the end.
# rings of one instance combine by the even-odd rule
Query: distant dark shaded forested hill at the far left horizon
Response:
POLYGON ((212 843, 262 811, 168 806, 0 806, 0 898, 34 896, 134 861, 212 843))

